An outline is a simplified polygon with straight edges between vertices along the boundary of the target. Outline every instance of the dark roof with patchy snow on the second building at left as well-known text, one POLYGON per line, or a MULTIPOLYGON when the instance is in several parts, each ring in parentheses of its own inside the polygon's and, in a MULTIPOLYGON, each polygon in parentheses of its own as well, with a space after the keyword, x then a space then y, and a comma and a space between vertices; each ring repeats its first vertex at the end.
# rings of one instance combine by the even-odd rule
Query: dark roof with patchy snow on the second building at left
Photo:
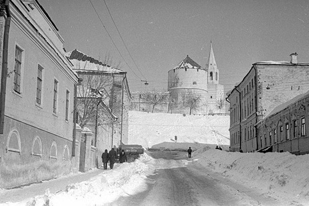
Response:
POLYGON ((112 73, 124 73, 124 71, 100 62, 99 60, 96 60, 88 55, 85 55, 77 49, 65 53, 65 56, 74 65, 74 69, 76 70, 93 70, 112 73))

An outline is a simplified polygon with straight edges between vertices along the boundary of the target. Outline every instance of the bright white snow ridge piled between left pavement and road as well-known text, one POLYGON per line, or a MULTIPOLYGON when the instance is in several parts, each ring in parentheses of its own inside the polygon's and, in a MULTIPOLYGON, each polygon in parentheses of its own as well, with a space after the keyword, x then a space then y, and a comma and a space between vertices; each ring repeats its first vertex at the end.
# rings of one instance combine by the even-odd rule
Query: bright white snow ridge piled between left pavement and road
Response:
POLYGON ((147 189, 147 175, 158 169, 186 167, 187 160, 153 159, 144 153, 133 163, 116 164, 113 170, 102 173, 88 181, 68 185, 63 192, 36 196, 21 202, 7 202, 2 206, 44 206, 44 205, 102 205, 115 201, 121 196, 134 195, 147 189))

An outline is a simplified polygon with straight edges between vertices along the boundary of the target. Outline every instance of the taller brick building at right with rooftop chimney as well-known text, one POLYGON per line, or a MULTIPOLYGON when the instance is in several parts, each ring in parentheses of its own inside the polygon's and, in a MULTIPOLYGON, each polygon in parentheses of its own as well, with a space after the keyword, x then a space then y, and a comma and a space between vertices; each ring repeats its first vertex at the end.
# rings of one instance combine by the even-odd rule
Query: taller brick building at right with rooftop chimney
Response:
POLYGON ((254 63, 243 80, 227 94, 232 151, 261 149, 257 123, 278 105, 309 89, 309 63, 298 63, 296 53, 290 56, 290 62, 254 63))

